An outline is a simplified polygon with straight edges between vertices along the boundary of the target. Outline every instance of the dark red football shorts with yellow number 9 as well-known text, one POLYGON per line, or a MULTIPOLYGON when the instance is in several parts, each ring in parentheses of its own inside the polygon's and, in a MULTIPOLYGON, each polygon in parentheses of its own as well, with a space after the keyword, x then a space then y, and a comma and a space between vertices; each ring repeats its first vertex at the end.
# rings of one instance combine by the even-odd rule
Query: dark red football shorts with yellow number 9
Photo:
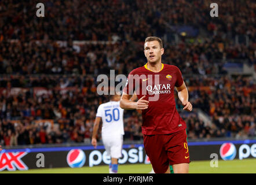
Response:
POLYGON ((144 135, 144 147, 155 173, 165 173, 169 165, 189 163, 186 130, 163 135, 144 135))

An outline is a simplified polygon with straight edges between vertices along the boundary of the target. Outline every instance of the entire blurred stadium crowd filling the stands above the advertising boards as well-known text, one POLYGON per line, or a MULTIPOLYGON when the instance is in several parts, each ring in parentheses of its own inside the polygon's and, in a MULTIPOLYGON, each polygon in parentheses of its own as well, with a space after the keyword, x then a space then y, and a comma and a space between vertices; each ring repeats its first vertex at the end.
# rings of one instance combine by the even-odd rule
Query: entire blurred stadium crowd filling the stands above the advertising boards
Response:
MULTIPOLYGON (((164 42, 163 62, 181 69, 193 108, 210 118, 182 114, 177 100, 188 138, 255 136, 254 80, 224 68, 240 60, 256 69, 254 1, 217 1, 218 18, 208 16, 210 1, 45 0, 41 18, 28 8, 34 1, 11 2, 0 2, 0 145, 90 140, 97 107, 108 101, 96 92, 97 75, 144 65, 144 39, 174 34, 174 25, 201 33, 164 42), (236 35, 250 42, 235 43, 236 35)), ((124 138, 142 139, 141 122, 126 111, 124 138)))

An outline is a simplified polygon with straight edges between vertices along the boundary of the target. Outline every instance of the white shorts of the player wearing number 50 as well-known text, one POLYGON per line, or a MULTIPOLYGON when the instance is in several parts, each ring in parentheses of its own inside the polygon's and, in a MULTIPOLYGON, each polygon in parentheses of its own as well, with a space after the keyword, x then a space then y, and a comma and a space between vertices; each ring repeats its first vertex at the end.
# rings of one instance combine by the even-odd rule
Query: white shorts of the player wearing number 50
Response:
POLYGON ((123 135, 102 136, 107 155, 111 158, 122 157, 123 135))

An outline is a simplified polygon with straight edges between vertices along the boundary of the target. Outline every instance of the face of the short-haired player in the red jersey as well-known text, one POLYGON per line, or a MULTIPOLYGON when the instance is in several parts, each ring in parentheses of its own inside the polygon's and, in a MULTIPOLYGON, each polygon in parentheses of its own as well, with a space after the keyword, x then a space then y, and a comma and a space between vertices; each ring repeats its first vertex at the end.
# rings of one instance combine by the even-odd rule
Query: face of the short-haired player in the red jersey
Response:
POLYGON ((155 63, 161 61, 163 51, 164 49, 160 48, 157 40, 145 42, 144 44, 144 54, 148 62, 155 63))

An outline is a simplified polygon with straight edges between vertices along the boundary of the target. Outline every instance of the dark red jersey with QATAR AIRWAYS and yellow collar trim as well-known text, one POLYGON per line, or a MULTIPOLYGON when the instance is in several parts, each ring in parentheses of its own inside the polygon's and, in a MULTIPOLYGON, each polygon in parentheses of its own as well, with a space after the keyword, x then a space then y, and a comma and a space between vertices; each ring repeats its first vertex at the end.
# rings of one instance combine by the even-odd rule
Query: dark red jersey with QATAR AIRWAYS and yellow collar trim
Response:
POLYGON ((135 91, 138 99, 145 95, 149 101, 148 109, 142 110, 142 134, 171 134, 186 128, 174 99, 174 87, 182 84, 180 69, 174 65, 162 64, 156 73, 145 64, 130 72, 123 92, 132 95, 135 91))

